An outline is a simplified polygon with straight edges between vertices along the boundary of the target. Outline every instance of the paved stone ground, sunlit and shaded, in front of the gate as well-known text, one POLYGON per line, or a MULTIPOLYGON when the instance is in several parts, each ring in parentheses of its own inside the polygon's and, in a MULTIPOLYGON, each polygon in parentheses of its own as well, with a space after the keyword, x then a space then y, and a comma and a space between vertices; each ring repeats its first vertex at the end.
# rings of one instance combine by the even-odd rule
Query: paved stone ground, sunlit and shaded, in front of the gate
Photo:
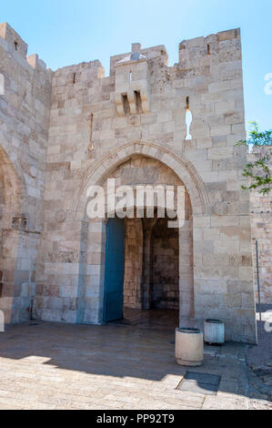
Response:
POLYGON ((175 362, 174 330, 164 322, 7 327, 0 409, 272 409, 267 396, 248 397, 246 357, 256 351, 236 343, 207 347, 203 366, 193 369, 221 376, 217 395, 176 390, 186 368, 175 362))

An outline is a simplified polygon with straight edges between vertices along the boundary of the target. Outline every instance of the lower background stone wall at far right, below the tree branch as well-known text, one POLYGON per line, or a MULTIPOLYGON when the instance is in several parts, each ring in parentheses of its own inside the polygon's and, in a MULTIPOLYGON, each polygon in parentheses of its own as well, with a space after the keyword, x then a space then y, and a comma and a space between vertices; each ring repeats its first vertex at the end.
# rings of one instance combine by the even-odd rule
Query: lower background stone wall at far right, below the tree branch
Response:
MULTIPOLYGON (((264 157, 270 152, 271 147, 254 148, 248 155, 250 161, 264 157)), ((270 159, 272 170, 272 159, 270 159)), ((257 296, 257 260, 256 240, 259 252, 259 276, 261 302, 272 304, 272 195, 261 195, 257 191, 251 191, 251 224, 252 224, 252 248, 254 260, 255 290, 257 296)))

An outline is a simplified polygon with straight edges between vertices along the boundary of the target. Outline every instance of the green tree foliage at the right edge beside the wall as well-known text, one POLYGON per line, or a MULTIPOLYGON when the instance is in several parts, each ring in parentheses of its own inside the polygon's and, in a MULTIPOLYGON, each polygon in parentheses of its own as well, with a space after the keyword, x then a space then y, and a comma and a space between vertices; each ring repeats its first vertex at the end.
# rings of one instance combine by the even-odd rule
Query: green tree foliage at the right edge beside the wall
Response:
MULTIPOLYGON (((272 129, 262 132, 257 122, 250 122, 250 125, 248 138, 239 141, 237 146, 246 145, 255 148, 272 146, 272 129)), ((258 193, 262 195, 267 195, 272 190, 272 178, 269 168, 271 154, 272 148, 269 148, 265 156, 260 154, 256 161, 247 163, 243 176, 249 179, 250 185, 248 187, 242 186, 242 189, 257 189, 258 193)))

